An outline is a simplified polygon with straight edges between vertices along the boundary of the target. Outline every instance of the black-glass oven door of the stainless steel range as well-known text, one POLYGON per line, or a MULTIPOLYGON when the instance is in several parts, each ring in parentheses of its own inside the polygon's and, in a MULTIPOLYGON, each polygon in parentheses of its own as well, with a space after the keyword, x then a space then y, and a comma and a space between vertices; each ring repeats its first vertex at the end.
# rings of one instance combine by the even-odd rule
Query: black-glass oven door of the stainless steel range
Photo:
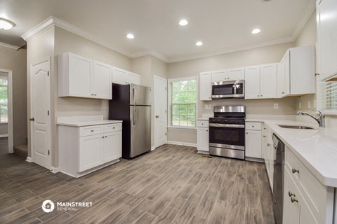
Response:
POLYGON ((244 150, 244 125, 209 124, 209 146, 244 150))

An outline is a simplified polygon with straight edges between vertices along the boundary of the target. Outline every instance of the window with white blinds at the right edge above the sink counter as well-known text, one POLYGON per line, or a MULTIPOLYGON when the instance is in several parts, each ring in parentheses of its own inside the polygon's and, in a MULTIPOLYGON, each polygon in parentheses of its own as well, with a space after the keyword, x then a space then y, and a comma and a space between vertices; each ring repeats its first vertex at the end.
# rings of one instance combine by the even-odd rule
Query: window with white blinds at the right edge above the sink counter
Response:
POLYGON ((319 108, 324 113, 337 113, 337 80, 320 83, 319 108))

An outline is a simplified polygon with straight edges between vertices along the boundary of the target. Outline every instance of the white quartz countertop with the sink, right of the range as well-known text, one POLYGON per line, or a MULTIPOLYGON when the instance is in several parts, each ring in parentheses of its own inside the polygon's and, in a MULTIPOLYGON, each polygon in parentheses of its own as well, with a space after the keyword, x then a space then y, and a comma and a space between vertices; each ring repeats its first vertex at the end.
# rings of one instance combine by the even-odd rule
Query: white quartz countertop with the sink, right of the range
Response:
POLYGON ((265 123, 324 186, 337 187, 337 128, 318 128, 294 120, 246 119, 246 122, 265 123), (315 130, 278 125, 305 125, 315 130))

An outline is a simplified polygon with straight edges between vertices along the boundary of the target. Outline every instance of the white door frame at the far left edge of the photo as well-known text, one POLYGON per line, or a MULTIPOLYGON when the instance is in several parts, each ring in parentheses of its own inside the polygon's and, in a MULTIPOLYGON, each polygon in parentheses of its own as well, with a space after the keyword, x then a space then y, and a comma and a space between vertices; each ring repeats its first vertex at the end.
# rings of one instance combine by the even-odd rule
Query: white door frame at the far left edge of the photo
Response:
POLYGON ((8 106, 8 153, 14 153, 13 147, 13 79, 11 70, 0 69, 7 73, 7 106, 8 106))

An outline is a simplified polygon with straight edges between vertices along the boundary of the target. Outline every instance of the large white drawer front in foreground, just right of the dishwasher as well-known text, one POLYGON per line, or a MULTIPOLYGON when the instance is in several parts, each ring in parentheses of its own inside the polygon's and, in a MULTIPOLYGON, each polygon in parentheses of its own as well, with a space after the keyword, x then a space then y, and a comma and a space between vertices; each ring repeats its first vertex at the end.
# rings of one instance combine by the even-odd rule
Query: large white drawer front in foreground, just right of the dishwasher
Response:
POLYGON ((311 174, 289 148, 286 147, 286 169, 289 170, 300 192, 305 197, 317 220, 322 220, 326 210, 328 190, 311 174))

